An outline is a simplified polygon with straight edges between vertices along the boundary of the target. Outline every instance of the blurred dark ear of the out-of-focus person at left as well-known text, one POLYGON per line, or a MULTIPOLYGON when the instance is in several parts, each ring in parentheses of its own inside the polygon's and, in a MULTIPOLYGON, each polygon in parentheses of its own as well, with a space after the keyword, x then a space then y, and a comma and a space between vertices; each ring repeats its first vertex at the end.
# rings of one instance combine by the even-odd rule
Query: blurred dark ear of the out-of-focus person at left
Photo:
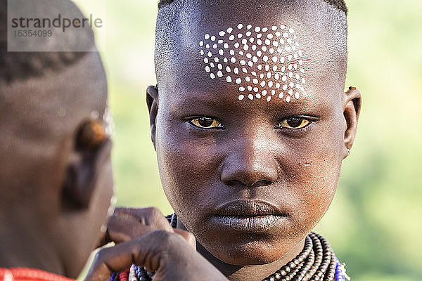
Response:
POLYGON ((63 182, 63 206, 70 209, 87 209, 96 189, 101 167, 108 161, 112 142, 110 138, 97 148, 75 148, 63 182))

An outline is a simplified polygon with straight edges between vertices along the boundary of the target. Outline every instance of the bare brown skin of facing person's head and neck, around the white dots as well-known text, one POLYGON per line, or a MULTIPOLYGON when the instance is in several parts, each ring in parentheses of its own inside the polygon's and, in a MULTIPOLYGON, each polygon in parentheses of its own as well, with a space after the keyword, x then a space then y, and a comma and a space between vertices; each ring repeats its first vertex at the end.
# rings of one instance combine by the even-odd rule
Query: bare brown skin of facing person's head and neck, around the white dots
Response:
POLYGON ((198 251, 230 280, 260 280, 300 252, 331 204, 356 133, 360 93, 343 92, 345 49, 330 24, 340 12, 322 1, 292 2, 238 9, 200 1, 186 8, 177 23, 177 48, 165 53, 177 60, 170 67, 158 58, 158 91, 147 90, 162 186, 179 227, 195 235, 198 251), (238 23, 295 29, 307 80, 299 100, 240 101, 238 86, 210 79, 198 42, 238 23), (219 126, 200 128, 200 117, 219 126), (309 124, 281 126, 291 117, 309 124), (268 214, 276 223, 251 223, 268 214), (223 215, 249 217, 250 226, 224 224, 223 215))

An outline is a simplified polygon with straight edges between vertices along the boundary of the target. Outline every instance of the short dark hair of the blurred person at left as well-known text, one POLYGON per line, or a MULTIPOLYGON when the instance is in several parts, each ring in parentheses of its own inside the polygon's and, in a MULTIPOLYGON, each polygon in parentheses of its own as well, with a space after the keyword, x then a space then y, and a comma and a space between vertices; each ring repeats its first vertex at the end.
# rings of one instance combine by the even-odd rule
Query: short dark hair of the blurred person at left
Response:
MULTIPOLYGON (((0 82, 7 84, 15 80, 26 80, 31 77, 42 77, 48 71, 58 71, 76 63, 87 52, 11 52, 8 51, 8 8, 7 0, 0 0, 0 82)), ((31 5, 31 4, 29 4, 31 5)), ((38 7, 37 7, 38 8, 38 7)), ((56 16, 58 11, 69 11, 82 16, 82 11, 69 0, 51 1, 51 5, 42 5, 43 15, 56 16)), ((67 30, 54 34, 54 41, 60 46, 71 44, 83 37, 88 46, 94 46, 94 32, 91 28, 84 28, 77 32, 67 30)), ((34 44, 39 44, 40 41, 34 44)), ((42 44, 42 43, 41 43, 42 44)))

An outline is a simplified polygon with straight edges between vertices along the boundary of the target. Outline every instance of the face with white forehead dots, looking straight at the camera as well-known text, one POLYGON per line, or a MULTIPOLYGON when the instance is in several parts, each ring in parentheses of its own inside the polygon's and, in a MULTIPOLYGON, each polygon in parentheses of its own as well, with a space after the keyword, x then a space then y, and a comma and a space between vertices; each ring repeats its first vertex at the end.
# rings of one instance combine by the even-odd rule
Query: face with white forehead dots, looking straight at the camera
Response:
POLYGON ((276 261, 305 238, 347 151, 338 58, 306 22, 271 13, 181 27, 179 60, 158 85, 167 198, 205 249, 235 265, 276 261))

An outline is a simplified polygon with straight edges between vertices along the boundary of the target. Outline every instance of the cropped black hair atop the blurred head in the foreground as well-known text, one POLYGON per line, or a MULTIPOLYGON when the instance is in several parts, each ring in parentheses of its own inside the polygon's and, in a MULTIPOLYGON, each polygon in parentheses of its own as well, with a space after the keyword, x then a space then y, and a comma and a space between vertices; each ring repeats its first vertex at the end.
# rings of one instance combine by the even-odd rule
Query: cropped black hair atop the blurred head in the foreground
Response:
MULTIPOLYGON (((25 80, 30 77, 40 77, 49 71, 62 70, 87 55, 87 52, 8 52, 8 16, 7 0, 0 0, 0 81, 12 82, 16 79, 25 80)), ((58 13, 82 18, 82 11, 72 1, 42 0, 37 3, 25 2, 25 5, 12 5, 10 10, 18 10, 20 15, 37 15, 39 18, 54 18, 58 13)), ((94 32, 91 28, 68 29, 63 32, 58 27, 51 28, 53 36, 37 37, 25 41, 26 49, 51 50, 72 49, 75 46, 94 48, 94 32)), ((16 39, 18 40, 18 39, 16 39)), ((10 43, 10 42, 9 42, 10 43)), ((10 43, 11 47, 13 46, 10 43)))

